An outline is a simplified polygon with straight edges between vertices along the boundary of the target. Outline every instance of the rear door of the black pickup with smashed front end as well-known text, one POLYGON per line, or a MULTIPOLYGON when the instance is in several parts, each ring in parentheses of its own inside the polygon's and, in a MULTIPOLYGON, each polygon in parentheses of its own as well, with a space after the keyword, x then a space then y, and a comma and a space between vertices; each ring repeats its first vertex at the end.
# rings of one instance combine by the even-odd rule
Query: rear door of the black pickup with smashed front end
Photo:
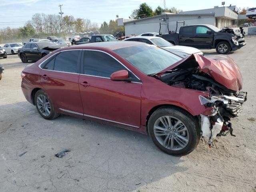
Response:
POLYGON ((180 45, 194 46, 194 26, 182 26, 178 34, 180 45))

